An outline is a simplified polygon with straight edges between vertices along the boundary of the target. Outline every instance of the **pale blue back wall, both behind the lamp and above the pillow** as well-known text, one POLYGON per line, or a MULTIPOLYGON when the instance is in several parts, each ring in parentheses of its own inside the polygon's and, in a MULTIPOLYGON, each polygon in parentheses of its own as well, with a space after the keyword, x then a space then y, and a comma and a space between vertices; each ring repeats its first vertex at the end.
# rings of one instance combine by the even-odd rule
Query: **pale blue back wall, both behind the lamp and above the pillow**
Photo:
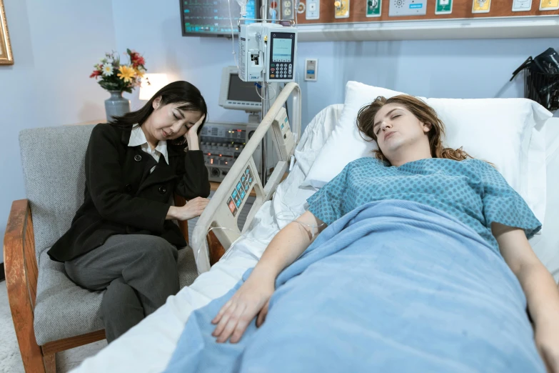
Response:
MULTIPOLYGON (((211 119, 246 118, 217 104, 221 68, 234 64, 230 40, 182 37, 181 14, 173 1, 119 0, 113 2, 113 13, 119 49, 134 46, 146 55, 149 72, 166 72, 198 86, 211 119)), ((324 106, 343 102, 348 80, 421 96, 523 96, 522 79, 509 83, 511 73, 550 46, 559 50, 559 38, 300 43, 299 71, 306 58, 318 58, 318 81, 300 76, 303 126, 324 106)))

